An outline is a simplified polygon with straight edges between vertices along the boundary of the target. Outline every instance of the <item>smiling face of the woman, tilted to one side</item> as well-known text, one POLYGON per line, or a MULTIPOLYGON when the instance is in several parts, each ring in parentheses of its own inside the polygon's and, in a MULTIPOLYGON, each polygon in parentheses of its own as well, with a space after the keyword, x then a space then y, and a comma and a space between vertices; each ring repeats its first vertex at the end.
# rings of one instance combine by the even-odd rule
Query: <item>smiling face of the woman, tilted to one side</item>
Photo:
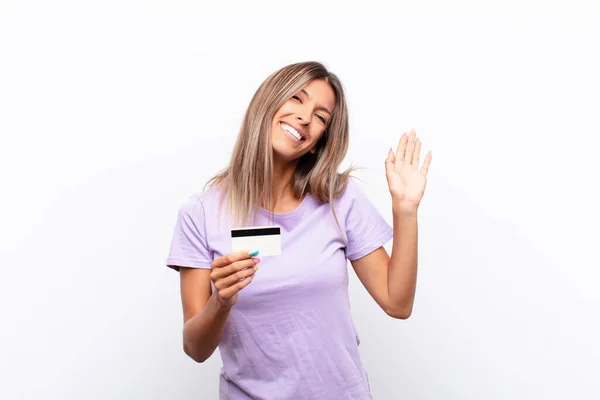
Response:
POLYGON ((331 121, 335 93, 323 79, 310 81, 275 112, 271 141, 275 155, 292 161, 307 152, 314 153, 316 144, 331 121))

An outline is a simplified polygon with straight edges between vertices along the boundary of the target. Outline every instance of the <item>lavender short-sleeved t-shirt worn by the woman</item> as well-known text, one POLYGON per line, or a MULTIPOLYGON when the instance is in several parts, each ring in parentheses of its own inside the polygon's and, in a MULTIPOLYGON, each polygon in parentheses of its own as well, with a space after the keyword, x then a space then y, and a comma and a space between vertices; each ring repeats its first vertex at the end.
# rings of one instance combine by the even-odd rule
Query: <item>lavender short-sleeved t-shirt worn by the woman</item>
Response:
MULTIPOLYGON (((218 223, 219 190, 199 192, 179 210, 167 265, 207 268, 231 252, 231 226, 218 223)), ((392 229, 353 178, 330 204, 308 194, 275 214, 281 255, 261 257, 239 292, 219 343, 220 399, 370 399, 350 315, 348 260, 376 250, 392 229)), ((226 207, 223 207, 225 212, 226 207)), ((257 226, 270 225, 258 209, 257 226)), ((260 249, 257 249, 260 251, 260 249)))

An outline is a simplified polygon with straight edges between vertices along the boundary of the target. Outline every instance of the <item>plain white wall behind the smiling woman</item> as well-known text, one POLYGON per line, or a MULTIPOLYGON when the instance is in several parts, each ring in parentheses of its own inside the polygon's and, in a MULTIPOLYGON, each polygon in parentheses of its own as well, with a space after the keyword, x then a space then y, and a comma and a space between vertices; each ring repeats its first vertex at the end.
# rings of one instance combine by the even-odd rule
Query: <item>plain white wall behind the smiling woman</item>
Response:
POLYGON ((0 397, 217 398, 177 209, 262 80, 318 60, 388 221, 389 147, 433 152, 413 316, 350 285, 374 398, 599 398, 600 15, 562 3, 2 1, 0 397))

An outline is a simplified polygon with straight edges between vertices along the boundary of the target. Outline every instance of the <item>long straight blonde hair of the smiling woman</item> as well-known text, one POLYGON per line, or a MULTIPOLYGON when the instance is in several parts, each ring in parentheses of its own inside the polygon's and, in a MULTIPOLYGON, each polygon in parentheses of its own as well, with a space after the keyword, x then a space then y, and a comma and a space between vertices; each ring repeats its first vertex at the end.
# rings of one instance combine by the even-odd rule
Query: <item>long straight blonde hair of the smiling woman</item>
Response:
MULTIPOLYGON (((227 198, 227 211, 234 226, 246 225, 255 206, 271 210, 273 219, 273 149, 271 123, 276 111, 314 79, 328 82, 335 93, 335 107, 314 154, 303 155, 292 177, 297 199, 310 193, 320 204, 329 202, 337 221, 333 200, 346 189, 350 173, 337 172, 348 150, 348 109, 338 77, 318 62, 291 64, 275 71, 258 88, 244 115, 229 167, 211 178, 206 186, 218 186, 221 205, 227 198)), ((219 208, 220 210, 220 208, 219 208)), ((220 212, 219 212, 220 214, 220 212)), ((339 223, 338 223, 339 227, 339 223)))

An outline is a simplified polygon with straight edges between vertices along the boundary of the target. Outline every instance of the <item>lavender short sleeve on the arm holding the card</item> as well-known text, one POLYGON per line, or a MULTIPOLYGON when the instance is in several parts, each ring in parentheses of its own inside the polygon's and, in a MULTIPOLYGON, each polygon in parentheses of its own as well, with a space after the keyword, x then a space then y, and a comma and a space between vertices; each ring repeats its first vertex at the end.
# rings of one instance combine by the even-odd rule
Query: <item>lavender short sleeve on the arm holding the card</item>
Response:
POLYGON ((179 208, 167 266, 210 269, 212 256, 206 240, 204 206, 200 196, 191 196, 179 208))

